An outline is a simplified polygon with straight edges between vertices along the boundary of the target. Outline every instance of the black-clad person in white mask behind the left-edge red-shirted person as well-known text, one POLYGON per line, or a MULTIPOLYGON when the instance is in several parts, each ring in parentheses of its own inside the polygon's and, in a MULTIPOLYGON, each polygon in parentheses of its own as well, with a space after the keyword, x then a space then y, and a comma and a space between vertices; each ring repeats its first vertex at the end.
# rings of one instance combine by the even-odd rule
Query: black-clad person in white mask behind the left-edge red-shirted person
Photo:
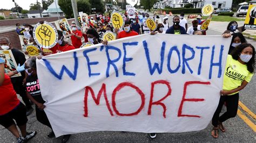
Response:
MULTIPOLYGON (((20 63, 21 65, 25 63, 25 55, 22 52, 18 51, 18 49, 12 48, 10 40, 8 38, 1 37, 0 46, 0 50, 11 50, 12 55, 14 55, 16 63, 20 63)), ((26 97, 26 89, 23 87, 23 79, 25 78, 25 72, 21 71, 21 75, 22 76, 12 77, 11 82, 14 86, 16 93, 22 97, 22 100, 26 105, 26 115, 29 116, 32 113, 33 108, 28 97, 26 97)))

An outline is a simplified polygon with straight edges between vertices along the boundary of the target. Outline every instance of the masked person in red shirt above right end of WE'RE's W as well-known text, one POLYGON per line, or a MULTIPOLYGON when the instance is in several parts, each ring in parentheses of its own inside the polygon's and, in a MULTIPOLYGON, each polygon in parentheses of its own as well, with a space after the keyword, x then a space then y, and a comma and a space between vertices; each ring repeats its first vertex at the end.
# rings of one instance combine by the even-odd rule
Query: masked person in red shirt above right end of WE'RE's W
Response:
POLYGON ((82 32, 77 30, 76 26, 71 26, 72 28, 72 33, 71 33, 71 41, 72 41, 72 45, 75 48, 80 48, 80 46, 82 45, 82 32))

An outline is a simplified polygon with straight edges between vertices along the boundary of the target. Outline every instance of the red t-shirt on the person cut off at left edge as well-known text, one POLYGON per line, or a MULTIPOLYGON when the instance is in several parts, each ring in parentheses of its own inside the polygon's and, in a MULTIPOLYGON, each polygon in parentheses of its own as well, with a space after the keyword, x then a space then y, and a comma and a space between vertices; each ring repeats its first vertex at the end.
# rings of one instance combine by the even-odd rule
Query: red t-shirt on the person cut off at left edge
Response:
POLYGON ((4 82, 0 85, 0 116, 10 112, 19 105, 19 99, 16 95, 11 79, 4 74, 4 82))

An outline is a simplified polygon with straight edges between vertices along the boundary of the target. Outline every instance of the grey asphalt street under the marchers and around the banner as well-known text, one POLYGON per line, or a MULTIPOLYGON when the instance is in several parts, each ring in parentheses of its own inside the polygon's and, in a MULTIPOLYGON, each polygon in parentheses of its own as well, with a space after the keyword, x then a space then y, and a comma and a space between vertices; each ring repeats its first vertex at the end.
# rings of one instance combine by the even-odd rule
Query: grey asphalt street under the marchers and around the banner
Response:
MULTIPOLYGON (((172 20, 169 18, 170 25, 172 20)), ((191 26, 189 24, 188 26, 191 26)), ((221 32, 213 31, 209 29, 207 35, 221 35, 221 32)), ((254 46, 256 42, 250 39, 247 41, 254 46)), ((253 76, 251 82, 240 92, 240 101, 247 106, 253 113, 256 112, 256 100, 255 100, 255 84, 256 76, 253 76)), ((244 110, 239 108, 244 115, 254 123, 255 119, 248 116, 244 110)), ((225 109, 223 109, 223 112, 225 109)), ((29 117, 28 131, 36 130, 38 134, 29 142, 60 142, 59 138, 47 137, 50 132, 50 128, 42 125, 36 120, 35 111, 29 117)), ((64 125, 65 126, 65 125, 64 125)), ((228 119, 225 121, 224 126, 226 132, 219 131, 219 138, 214 139, 211 136, 212 125, 211 123, 204 130, 197 132, 187 133, 158 133, 155 139, 150 139, 146 133, 136 132, 86 132, 79 134, 72 134, 68 142, 255 142, 256 134, 250 126, 245 123, 245 120, 239 116, 228 119)), ((3 126, 0 126, 0 142, 16 142, 14 136, 6 130, 3 126)))

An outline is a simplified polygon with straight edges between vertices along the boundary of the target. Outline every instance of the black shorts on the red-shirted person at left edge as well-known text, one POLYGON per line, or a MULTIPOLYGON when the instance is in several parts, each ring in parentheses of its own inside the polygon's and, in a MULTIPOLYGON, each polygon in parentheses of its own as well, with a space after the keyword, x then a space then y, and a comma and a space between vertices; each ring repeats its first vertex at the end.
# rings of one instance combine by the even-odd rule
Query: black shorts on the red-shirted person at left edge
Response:
POLYGON ((21 102, 19 102, 19 105, 16 106, 15 109, 11 110, 5 115, 0 116, 0 124, 5 128, 8 128, 11 125, 15 124, 14 119, 18 126, 25 125, 26 122, 28 121, 28 118, 26 118, 25 105, 22 104, 21 102))

